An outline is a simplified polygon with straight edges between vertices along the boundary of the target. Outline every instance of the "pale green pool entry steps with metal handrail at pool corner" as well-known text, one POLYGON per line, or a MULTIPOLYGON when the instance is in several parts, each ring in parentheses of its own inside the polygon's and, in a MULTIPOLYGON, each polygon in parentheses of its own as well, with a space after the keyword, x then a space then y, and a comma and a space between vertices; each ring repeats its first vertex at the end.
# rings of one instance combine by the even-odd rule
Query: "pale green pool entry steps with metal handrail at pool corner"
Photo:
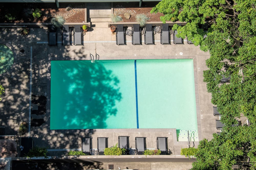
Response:
POLYGON ((198 142, 198 132, 197 130, 180 130, 176 129, 177 134, 177 141, 188 141, 188 133, 189 133, 189 140, 191 142, 198 142))

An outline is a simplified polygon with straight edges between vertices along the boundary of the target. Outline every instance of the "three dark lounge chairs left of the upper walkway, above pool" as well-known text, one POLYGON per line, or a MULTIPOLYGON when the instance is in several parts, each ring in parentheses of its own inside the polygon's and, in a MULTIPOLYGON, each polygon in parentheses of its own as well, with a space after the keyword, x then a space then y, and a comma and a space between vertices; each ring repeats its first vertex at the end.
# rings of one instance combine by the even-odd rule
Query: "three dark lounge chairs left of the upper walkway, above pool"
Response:
MULTIPOLYGON (((71 45, 72 32, 74 45, 83 45, 83 31, 80 25, 62 26, 62 45, 71 45)), ((54 25, 48 27, 48 45, 57 45, 57 28, 54 25)))

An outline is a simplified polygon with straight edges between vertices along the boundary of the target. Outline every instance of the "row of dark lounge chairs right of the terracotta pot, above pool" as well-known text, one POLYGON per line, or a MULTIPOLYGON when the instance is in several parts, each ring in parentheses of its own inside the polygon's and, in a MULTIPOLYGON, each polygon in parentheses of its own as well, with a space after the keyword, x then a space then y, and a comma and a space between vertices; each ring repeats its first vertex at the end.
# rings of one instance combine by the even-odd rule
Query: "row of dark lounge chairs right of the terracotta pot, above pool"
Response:
MULTIPOLYGON (((181 24, 178 24, 181 26, 181 24)), ((118 24, 116 27, 116 44, 117 45, 126 45, 126 30, 127 27, 124 27, 123 24, 118 24)), ((132 27, 132 44, 133 45, 142 45, 142 31, 139 24, 133 24, 132 27)), ((144 43, 146 45, 153 45, 154 43, 154 35, 156 34, 156 31, 154 30, 154 27, 152 24, 146 24, 144 27, 144 43)), ((160 42, 161 44, 170 44, 170 34, 171 29, 169 27, 169 24, 163 24, 160 28, 160 42)), ((177 31, 175 30, 173 33, 173 41, 174 44, 183 44, 183 38, 178 38, 177 31)), ((192 42, 191 42, 192 43, 192 42)))

